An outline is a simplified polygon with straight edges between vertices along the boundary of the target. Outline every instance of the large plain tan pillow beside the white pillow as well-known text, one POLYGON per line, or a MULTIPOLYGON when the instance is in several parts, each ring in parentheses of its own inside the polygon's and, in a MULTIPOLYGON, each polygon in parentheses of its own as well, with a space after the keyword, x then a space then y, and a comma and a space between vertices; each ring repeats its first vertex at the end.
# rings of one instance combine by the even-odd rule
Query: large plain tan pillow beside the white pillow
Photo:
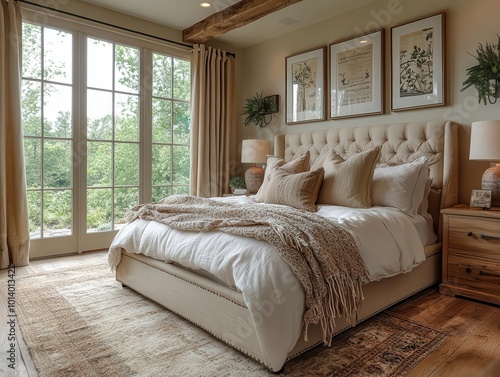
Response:
POLYGON ((330 151, 323 163, 325 176, 318 203, 353 208, 371 207, 373 171, 379 156, 379 147, 357 153, 347 160, 330 151))

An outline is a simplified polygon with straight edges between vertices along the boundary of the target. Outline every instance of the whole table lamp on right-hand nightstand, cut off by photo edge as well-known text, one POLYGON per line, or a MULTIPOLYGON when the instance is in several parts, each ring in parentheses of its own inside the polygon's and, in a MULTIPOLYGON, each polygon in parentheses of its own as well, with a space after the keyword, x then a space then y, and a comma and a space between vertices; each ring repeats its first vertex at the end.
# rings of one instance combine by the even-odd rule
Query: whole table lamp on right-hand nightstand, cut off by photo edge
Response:
POLYGON ((500 120, 472 122, 469 159, 496 162, 484 172, 481 189, 491 190, 492 207, 500 207, 500 120))

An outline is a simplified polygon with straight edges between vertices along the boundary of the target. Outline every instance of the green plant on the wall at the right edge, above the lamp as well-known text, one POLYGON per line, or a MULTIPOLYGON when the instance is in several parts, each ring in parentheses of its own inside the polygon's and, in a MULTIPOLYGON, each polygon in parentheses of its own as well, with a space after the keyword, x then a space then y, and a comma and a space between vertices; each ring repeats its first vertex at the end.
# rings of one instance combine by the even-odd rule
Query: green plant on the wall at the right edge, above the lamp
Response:
POLYGON ((467 79, 463 82, 461 91, 473 86, 477 90, 479 103, 486 100, 491 93, 490 80, 495 80, 493 90, 498 91, 500 81, 500 36, 497 35, 497 44, 486 43, 485 45, 479 44, 476 50, 477 59, 476 65, 467 68, 467 79))

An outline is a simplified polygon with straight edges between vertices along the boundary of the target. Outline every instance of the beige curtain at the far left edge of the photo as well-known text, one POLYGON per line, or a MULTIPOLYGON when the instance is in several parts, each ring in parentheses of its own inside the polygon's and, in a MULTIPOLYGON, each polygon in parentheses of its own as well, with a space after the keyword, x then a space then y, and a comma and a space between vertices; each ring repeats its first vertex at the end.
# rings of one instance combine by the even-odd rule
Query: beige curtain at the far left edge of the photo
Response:
POLYGON ((0 268, 28 264, 29 226, 21 128, 21 6, 0 0, 0 268))

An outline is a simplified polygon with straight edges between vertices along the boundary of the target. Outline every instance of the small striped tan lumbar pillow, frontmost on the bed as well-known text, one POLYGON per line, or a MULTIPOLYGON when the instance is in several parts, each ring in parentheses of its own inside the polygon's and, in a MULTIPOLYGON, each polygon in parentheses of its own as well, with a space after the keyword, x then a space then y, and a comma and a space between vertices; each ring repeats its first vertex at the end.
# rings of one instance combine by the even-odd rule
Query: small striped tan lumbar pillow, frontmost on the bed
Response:
POLYGON ((323 168, 291 174, 275 167, 270 171, 264 202, 316 212, 316 200, 323 181, 323 173, 323 168))

